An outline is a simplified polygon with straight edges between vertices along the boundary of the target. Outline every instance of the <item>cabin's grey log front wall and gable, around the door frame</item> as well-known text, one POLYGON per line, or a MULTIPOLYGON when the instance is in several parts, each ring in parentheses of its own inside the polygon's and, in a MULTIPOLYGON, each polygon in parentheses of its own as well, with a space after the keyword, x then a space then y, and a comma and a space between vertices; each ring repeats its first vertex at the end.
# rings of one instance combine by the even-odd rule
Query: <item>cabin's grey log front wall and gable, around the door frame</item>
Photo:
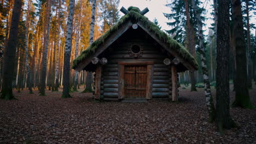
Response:
POLYGON ((108 63, 102 67, 101 98, 110 101, 118 100, 118 62, 136 60, 154 61, 152 99, 170 99, 171 67, 163 63, 164 59, 170 56, 161 49, 161 46, 140 28, 131 28, 124 33, 101 55, 108 59, 108 63), (130 56, 130 47, 134 44, 143 49, 141 57, 130 56))

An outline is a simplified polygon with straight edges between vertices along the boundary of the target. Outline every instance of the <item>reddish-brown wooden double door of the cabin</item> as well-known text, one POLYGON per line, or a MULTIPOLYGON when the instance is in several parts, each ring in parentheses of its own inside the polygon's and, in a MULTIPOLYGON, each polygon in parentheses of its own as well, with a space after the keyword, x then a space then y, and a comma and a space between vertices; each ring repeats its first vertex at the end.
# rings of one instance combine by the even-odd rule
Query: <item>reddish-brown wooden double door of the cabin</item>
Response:
POLYGON ((125 98, 146 98, 147 65, 125 65, 125 98))

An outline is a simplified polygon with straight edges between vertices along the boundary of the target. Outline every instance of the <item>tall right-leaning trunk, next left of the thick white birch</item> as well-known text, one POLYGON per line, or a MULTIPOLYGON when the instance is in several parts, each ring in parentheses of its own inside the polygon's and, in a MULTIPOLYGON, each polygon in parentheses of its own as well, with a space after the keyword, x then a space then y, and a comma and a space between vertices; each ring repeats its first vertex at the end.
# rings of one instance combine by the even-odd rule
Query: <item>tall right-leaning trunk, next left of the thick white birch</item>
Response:
POLYGON ((42 65, 41 65, 41 73, 40 73, 40 90, 39 90, 40 95, 45 95, 47 54, 48 54, 50 21, 51 21, 50 13, 51 13, 51 0, 47 1, 46 11, 45 11, 44 45, 43 45, 43 57, 42 57, 42 65))

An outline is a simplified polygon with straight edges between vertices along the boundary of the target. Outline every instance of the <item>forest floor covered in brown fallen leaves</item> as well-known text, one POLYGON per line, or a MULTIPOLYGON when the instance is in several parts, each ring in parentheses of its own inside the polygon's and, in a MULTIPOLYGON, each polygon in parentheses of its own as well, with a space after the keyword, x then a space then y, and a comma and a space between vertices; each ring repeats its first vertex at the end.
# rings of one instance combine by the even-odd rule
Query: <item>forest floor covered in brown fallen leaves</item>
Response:
MULTIPOLYGON (((231 107, 239 127, 220 135, 207 121, 203 89, 179 89, 176 103, 99 103, 91 93, 62 99, 61 92, 14 90, 18 100, 0 100, 0 143, 256 143, 255 109, 231 107)), ((255 106, 256 86, 249 92, 255 106)))

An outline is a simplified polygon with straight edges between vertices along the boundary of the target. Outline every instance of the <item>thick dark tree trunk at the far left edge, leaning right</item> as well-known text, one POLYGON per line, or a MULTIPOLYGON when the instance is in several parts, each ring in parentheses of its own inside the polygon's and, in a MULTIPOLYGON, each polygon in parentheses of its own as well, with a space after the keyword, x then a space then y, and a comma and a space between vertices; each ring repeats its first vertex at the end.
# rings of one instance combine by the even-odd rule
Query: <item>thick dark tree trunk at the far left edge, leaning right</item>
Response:
POLYGON ((21 14, 21 0, 14 2, 13 15, 11 17, 10 37, 7 42, 7 46, 4 48, 4 74, 3 74, 3 86, 1 92, 1 99, 10 100, 15 99, 13 95, 13 75, 14 75, 14 61, 15 49, 18 37, 18 25, 21 14))

